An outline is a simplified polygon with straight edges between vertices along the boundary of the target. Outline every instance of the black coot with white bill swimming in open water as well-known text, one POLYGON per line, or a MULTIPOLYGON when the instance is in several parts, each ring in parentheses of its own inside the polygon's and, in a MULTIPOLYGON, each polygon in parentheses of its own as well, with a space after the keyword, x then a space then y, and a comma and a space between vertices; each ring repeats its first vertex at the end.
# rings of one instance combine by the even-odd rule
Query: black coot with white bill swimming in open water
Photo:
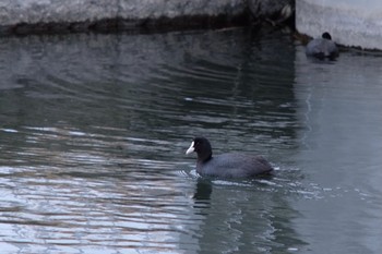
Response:
POLYGON ((186 154, 198 154, 196 171, 201 176, 218 178, 251 178, 270 173, 273 168, 262 156, 240 153, 212 156, 211 144, 205 137, 195 137, 186 154))

